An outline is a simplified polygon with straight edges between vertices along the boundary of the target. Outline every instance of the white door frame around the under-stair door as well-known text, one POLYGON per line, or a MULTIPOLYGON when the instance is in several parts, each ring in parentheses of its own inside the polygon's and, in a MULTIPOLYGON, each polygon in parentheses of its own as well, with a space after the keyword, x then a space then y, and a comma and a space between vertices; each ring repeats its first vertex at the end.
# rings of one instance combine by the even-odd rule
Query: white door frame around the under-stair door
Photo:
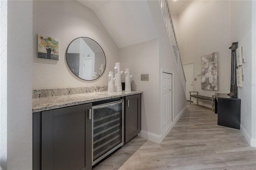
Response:
MULTIPOLYGON (((172 122, 174 120, 174 71, 169 71, 169 70, 166 70, 166 69, 161 69, 161 87, 160 87, 160 90, 161 90, 161 94, 160 94, 160 129, 161 129, 161 134, 164 133, 163 129, 162 129, 162 73, 165 72, 165 73, 168 73, 168 74, 172 74, 172 122)), ((166 129, 165 129, 166 130, 166 129)))

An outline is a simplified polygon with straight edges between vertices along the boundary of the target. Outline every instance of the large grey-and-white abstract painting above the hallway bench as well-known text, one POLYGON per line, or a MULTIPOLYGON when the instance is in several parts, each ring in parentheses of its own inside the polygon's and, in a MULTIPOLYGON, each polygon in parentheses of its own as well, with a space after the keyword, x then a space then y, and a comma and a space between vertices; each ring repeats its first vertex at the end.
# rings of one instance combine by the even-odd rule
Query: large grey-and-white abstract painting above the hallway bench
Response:
POLYGON ((218 52, 201 57, 201 88, 218 91, 218 52))

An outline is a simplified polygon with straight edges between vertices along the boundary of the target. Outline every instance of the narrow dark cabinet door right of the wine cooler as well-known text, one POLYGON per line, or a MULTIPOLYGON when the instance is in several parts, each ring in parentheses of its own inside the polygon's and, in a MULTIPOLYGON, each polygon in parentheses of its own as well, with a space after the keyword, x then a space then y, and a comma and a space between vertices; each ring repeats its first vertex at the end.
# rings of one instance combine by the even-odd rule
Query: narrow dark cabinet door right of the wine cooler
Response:
POLYGON ((125 142, 134 138, 141 128, 141 95, 125 97, 125 142))

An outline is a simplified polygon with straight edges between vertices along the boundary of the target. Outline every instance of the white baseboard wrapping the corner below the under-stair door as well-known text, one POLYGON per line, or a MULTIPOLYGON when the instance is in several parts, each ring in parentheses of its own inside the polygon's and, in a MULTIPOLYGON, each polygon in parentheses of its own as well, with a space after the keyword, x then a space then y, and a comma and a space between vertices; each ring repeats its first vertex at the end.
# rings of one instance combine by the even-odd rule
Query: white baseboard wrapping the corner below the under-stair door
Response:
POLYGON ((152 142, 156 142, 156 143, 160 144, 164 140, 164 138, 167 136, 167 134, 172 130, 174 125, 178 122, 178 120, 180 119, 180 117, 182 116, 184 111, 186 111, 187 108, 188 107, 186 105, 180 111, 180 113, 175 117, 174 121, 166 128, 166 130, 164 130, 163 134, 157 135, 157 134, 154 134, 154 133, 147 132, 145 130, 140 130, 140 133, 138 134, 138 136, 140 136, 142 138, 145 138, 147 140, 150 140, 152 142))

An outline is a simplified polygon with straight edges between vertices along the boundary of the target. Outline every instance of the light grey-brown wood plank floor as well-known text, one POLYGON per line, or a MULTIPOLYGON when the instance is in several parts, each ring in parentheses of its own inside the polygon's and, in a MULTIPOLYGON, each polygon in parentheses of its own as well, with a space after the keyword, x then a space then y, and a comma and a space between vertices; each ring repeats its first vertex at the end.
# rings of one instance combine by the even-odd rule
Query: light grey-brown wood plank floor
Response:
POLYGON ((256 170, 256 148, 238 129, 217 125, 210 108, 188 110, 156 144, 137 136, 93 170, 256 170))

